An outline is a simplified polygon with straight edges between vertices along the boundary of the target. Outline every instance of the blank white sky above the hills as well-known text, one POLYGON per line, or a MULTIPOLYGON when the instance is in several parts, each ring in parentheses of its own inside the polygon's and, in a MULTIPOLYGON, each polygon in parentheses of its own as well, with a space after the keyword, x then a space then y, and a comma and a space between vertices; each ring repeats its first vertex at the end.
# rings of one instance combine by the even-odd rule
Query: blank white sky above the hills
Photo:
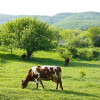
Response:
POLYGON ((58 13, 100 12, 100 0, 1 0, 0 14, 48 15, 58 13))

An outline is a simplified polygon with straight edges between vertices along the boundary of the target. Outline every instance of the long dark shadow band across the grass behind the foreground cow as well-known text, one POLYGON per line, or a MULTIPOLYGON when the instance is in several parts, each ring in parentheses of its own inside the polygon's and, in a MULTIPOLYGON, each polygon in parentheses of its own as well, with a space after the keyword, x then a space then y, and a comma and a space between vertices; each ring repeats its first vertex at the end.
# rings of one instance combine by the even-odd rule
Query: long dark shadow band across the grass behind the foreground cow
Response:
MULTIPOLYGON (((52 58, 38 58, 38 57, 31 57, 30 60, 22 60, 21 56, 14 55, 14 54, 0 54, 0 58, 4 60, 12 60, 12 61, 25 61, 29 63, 38 63, 40 65, 56 65, 56 66, 64 66, 64 61, 52 58)), ((80 61, 74 62, 70 60, 69 66, 67 67, 94 67, 100 68, 100 64, 89 64, 89 63, 82 63, 80 61)))

